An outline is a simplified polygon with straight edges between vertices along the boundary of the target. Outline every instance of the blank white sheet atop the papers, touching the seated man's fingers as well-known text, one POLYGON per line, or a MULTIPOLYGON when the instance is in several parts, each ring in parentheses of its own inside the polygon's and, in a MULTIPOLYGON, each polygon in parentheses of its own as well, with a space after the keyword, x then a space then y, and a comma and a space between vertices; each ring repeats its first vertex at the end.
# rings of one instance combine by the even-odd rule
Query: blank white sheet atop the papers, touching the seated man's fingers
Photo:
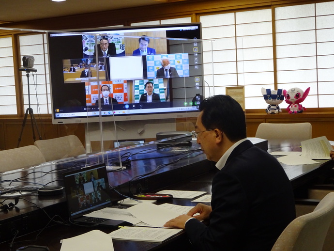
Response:
POLYGON ((180 214, 170 209, 151 204, 151 203, 140 203, 126 209, 138 220, 153 226, 153 227, 164 227, 164 224, 180 214))

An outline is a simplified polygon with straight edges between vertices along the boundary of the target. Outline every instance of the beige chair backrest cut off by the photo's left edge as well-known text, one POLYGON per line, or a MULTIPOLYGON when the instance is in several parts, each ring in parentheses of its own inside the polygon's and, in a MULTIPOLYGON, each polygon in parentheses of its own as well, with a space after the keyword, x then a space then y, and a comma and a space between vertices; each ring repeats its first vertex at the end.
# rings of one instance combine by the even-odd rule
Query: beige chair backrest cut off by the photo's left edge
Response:
POLYGON ((46 162, 41 151, 34 145, 0 151, 0 172, 31 167, 46 162))

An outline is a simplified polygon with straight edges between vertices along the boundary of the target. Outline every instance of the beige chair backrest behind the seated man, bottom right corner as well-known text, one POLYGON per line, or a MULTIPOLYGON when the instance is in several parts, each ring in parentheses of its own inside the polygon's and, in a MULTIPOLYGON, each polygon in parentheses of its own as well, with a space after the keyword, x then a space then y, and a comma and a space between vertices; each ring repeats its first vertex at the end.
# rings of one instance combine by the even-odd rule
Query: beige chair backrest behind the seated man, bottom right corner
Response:
POLYGON ((321 251, 333 217, 334 192, 331 192, 312 213, 291 221, 276 240, 272 251, 321 251))

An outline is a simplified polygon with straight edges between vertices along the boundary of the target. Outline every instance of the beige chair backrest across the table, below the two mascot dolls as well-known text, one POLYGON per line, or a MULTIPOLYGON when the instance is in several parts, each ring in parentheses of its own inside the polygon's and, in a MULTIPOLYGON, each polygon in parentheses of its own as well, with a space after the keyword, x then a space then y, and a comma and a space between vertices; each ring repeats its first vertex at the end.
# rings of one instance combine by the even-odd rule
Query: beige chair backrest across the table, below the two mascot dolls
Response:
POLYGON ((309 140, 312 139, 312 125, 308 122, 289 124, 261 123, 258 125, 255 137, 265 140, 309 140))

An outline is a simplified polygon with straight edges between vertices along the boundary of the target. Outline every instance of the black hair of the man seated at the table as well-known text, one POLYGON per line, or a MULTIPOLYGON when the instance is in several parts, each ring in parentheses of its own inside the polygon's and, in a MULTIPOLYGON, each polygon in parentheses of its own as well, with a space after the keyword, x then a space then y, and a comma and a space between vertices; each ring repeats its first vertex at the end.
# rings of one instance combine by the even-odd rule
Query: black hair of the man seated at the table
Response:
POLYGON ((240 104, 228 95, 215 95, 199 104, 206 129, 219 129, 236 142, 246 138, 246 118, 240 104))

